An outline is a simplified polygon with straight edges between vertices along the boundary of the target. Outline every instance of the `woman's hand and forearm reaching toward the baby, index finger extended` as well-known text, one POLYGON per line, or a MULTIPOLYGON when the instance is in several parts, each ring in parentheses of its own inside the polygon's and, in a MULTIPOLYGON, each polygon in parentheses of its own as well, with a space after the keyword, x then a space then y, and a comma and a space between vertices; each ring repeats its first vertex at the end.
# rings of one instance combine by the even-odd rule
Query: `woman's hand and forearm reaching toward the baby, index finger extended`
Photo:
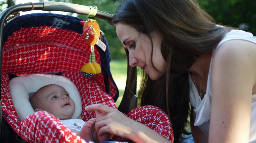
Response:
POLYGON ((99 135, 110 133, 139 143, 170 142, 151 128, 126 117, 116 109, 102 104, 89 105, 85 109, 88 111, 101 111, 106 114, 97 118, 95 123, 95 131, 99 135))

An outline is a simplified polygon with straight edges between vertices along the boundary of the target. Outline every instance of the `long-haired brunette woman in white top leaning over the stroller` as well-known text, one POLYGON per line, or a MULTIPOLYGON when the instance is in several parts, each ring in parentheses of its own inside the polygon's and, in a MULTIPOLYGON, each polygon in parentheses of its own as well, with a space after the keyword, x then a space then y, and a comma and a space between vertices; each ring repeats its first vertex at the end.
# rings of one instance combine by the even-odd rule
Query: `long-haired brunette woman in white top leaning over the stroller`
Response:
MULTIPOLYGON (((187 134, 189 103, 195 142, 256 141, 256 37, 215 24, 196 0, 127 0, 113 23, 129 50, 130 66, 145 72, 140 105, 168 114, 174 142, 187 134)), ((103 105, 86 109, 106 113, 97 119, 99 132, 168 142, 118 111, 103 105)))

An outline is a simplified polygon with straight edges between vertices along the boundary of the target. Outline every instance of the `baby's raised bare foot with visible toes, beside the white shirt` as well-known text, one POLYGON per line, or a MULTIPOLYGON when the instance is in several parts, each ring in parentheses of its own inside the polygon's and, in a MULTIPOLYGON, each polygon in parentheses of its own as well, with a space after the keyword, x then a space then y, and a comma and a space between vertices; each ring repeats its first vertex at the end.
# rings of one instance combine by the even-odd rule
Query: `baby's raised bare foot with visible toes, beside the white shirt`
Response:
POLYGON ((93 141, 94 134, 94 125, 96 122, 96 118, 92 118, 84 123, 82 130, 79 133, 79 136, 85 140, 93 141))

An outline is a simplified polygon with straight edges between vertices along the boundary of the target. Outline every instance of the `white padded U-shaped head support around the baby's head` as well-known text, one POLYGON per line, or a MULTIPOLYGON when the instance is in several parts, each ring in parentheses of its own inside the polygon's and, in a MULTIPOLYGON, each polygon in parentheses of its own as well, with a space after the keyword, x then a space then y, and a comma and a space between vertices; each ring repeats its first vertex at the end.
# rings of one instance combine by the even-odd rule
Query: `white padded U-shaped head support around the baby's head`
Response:
POLYGON ((70 98, 73 99, 76 106, 72 119, 76 119, 81 115, 82 103, 80 94, 72 81, 64 76, 34 74, 15 77, 9 81, 10 94, 20 121, 35 112, 29 102, 28 94, 36 92, 48 84, 60 85, 69 93, 70 98))

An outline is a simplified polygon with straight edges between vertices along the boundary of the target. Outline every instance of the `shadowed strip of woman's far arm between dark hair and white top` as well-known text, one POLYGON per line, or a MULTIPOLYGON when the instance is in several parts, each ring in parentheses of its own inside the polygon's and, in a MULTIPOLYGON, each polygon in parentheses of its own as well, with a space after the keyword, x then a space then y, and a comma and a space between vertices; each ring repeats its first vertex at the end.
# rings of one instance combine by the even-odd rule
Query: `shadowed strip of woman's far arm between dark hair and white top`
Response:
POLYGON ((208 136, 205 133, 203 133, 198 126, 194 126, 195 119, 193 115, 194 115, 193 108, 191 108, 190 128, 191 128, 193 140, 195 143, 207 143, 208 136))

